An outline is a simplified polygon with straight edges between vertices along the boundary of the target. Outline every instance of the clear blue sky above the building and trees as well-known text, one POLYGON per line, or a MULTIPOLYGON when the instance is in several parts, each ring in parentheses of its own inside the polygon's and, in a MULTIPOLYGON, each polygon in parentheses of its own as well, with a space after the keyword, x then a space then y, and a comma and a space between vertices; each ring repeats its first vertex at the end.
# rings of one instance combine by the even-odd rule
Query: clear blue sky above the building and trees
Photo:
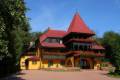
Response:
POLYGON ((120 33, 120 0, 25 0, 31 32, 48 27, 67 30, 76 12, 102 37, 106 31, 120 33))

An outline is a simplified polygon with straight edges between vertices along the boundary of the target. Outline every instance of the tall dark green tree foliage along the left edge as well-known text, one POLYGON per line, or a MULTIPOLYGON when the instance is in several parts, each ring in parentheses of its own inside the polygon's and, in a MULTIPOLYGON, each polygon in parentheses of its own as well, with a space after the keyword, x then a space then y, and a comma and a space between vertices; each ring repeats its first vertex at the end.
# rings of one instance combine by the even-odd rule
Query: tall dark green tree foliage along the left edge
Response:
POLYGON ((29 45, 26 11, 24 0, 0 0, 0 77, 18 70, 19 55, 29 45))

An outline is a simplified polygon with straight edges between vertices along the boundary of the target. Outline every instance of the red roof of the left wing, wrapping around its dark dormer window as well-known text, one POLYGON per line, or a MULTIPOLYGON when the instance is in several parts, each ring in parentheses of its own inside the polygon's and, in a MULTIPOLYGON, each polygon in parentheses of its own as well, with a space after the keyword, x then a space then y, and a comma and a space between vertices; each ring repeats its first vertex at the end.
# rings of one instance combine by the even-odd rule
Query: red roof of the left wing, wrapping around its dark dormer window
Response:
POLYGON ((52 38, 62 38, 64 35, 66 34, 65 31, 60 31, 60 30, 47 30, 43 35, 41 35, 39 37, 39 41, 41 46, 43 47, 50 47, 50 48, 64 48, 64 44, 60 44, 60 43, 48 43, 48 42, 44 42, 45 39, 47 39, 48 37, 52 37, 52 38))

